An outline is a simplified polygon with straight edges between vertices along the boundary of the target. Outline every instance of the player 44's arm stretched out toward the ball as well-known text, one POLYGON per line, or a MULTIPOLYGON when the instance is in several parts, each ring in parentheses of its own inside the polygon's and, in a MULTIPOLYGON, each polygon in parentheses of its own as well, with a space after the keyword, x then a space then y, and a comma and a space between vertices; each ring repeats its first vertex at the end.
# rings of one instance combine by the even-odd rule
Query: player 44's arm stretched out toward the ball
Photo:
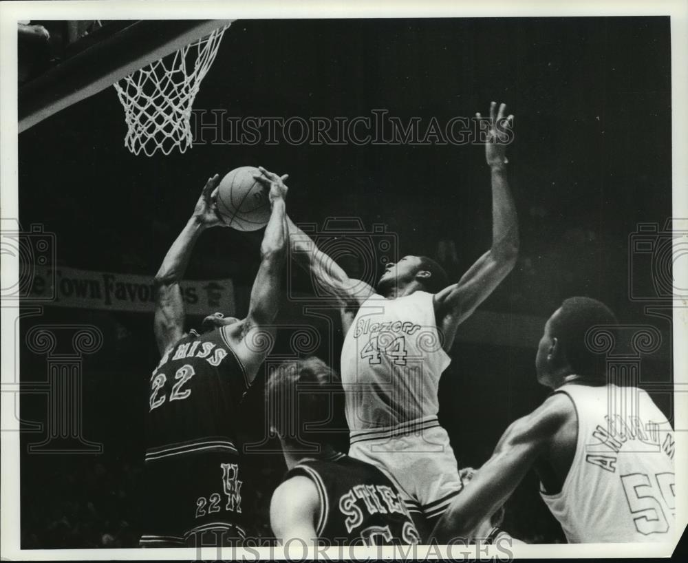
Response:
MULTIPOLYGON (((273 172, 259 167, 265 178, 256 179, 267 184, 279 179, 273 172)), ((323 290, 339 299, 342 305, 361 304, 374 293, 372 287, 360 279, 352 279, 332 258, 321 251, 315 242, 287 216, 290 244, 299 264, 310 270, 314 280, 323 290)))

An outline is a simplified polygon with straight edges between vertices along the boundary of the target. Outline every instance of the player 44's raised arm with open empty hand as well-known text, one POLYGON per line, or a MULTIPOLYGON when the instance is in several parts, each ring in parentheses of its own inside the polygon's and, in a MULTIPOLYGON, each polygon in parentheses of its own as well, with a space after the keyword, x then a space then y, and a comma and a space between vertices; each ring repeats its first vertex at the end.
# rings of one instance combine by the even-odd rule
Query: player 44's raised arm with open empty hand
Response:
MULTIPOLYGON (((469 317, 482 301, 513 269, 519 248, 516 208, 506 178, 505 145, 498 143, 513 125, 513 115, 504 117, 506 105, 490 106, 490 130, 485 156, 492 178, 492 246, 453 284, 434 297, 438 324, 444 330, 444 348, 449 350, 459 324, 469 317)), ((480 114, 476 114, 480 118, 480 114)))

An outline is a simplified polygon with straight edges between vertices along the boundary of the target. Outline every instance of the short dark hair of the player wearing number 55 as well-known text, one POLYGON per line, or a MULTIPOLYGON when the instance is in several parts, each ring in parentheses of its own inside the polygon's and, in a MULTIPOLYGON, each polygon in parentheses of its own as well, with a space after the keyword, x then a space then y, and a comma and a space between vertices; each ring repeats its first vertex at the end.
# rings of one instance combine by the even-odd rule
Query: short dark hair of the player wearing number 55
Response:
POLYGON ((606 361, 603 354, 590 350, 585 333, 594 326, 616 326, 619 321, 612 310, 590 297, 569 297, 552 319, 550 330, 563 347, 568 363, 577 375, 604 378, 606 361))

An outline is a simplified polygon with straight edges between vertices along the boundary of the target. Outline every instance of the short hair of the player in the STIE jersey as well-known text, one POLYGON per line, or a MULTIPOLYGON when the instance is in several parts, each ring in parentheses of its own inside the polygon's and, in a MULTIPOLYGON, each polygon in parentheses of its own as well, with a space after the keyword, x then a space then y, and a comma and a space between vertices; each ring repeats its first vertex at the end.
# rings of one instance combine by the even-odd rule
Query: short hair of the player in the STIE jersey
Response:
POLYGON ((305 426, 332 418, 332 393, 338 390, 337 372, 321 359, 310 356, 285 361, 266 384, 268 423, 286 442, 325 444, 330 434, 308 431, 305 426))

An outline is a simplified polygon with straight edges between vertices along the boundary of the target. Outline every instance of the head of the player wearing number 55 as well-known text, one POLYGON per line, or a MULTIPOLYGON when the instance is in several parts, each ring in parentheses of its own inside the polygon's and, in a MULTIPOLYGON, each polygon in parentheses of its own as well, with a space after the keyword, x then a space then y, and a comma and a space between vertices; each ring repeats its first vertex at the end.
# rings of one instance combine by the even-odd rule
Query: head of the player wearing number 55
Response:
POLYGON ((548 387, 576 374, 606 381, 605 359, 585 344, 585 333, 594 326, 618 324, 608 306, 590 297, 570 297, 545 323, 537 348, 537 380, 548 387))

